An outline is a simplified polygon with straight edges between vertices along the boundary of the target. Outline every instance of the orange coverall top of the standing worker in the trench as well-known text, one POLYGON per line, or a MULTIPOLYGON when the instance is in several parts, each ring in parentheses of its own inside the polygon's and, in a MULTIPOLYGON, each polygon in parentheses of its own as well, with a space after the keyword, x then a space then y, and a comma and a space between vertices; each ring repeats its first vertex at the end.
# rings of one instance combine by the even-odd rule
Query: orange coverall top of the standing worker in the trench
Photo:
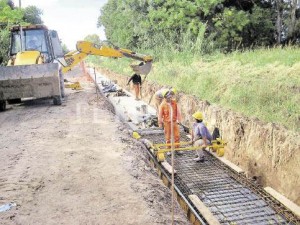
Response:
MULTIPOLYGON (((181 113, 177 102, 175 100, 171 100, 171 106, 173 109, 173 122, 181 122, 181 113)), ((164 100, 159 106, 158 122, 171 122, 170 105, 166 102, 166 100, 164 100)))

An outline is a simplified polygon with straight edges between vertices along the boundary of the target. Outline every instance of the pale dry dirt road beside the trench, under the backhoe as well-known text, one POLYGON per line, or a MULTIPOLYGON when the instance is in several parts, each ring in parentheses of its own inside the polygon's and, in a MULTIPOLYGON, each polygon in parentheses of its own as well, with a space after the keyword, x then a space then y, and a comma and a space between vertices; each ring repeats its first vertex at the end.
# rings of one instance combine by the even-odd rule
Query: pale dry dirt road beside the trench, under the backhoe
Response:
MULTIPOLYGON (((171 224, 170 191, 145 151, 93 84, 82 85, 62 106, 0 114, 0 206, 17 204, 0 224, 171 224)), ((189 224, 179 208, 175 224, 189 224)))

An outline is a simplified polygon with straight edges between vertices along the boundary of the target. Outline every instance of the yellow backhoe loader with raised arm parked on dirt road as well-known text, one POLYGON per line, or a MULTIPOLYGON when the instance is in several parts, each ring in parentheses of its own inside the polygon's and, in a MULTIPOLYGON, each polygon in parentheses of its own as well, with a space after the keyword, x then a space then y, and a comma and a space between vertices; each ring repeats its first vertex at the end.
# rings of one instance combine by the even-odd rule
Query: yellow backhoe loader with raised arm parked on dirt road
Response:
POLYGON ((63 74, 88 55, 131 58, 141 61, 130 65, 135 73, 147 75, 151 71, 151 56, 113 44, 78 41, 75 51, 64 54, 57 32, 45 25, 18 25, 10 31, 10 60, 7 66, 0 67, 0 111, 6 110, 6 102, 20 103, 28 98, 52 98, 54 105, 61 105, 63 74))

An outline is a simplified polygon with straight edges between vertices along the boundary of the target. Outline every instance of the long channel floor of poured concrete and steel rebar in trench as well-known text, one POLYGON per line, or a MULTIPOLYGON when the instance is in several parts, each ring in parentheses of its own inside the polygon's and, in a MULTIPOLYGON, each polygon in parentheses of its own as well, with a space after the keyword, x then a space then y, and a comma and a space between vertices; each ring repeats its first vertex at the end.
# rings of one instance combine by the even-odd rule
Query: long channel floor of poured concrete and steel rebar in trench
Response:
MULTIPOLYGON (((141 135, 150 163, 163 183, 171 187, 170 156, 166 155, 166 161, 160 163, 149 146, 149 143, 164 143, 163 131, 154 126, 155 109, 136 101, 131 93, 93 69, 89 69, 89 73, 120 119, 141 135)), ((181 140, 189 140, 183 129, 181 140)), ((204 163, 193 160, 194 151, 175 156, 175 197, 191 224, 300 225, 299 207, 296 206, 296 211, 289 209, 263 187, 247 179, 237 166, 209 151, 205 154, 204 163)))

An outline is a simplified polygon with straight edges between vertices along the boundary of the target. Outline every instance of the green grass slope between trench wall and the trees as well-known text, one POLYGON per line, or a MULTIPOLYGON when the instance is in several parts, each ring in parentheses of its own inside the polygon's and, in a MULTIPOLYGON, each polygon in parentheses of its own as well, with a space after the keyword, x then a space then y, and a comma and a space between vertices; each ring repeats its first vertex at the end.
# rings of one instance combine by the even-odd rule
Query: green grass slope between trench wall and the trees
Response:
MULTIPOLYGON (((205 56, 174 50, 155 50, 150 54, 155 62, 148 80, 171 85, 246 116, 300 131, 299 48, 205 56)), ((129 76, 130 62, 101 58, 96 64, 129 76)))

